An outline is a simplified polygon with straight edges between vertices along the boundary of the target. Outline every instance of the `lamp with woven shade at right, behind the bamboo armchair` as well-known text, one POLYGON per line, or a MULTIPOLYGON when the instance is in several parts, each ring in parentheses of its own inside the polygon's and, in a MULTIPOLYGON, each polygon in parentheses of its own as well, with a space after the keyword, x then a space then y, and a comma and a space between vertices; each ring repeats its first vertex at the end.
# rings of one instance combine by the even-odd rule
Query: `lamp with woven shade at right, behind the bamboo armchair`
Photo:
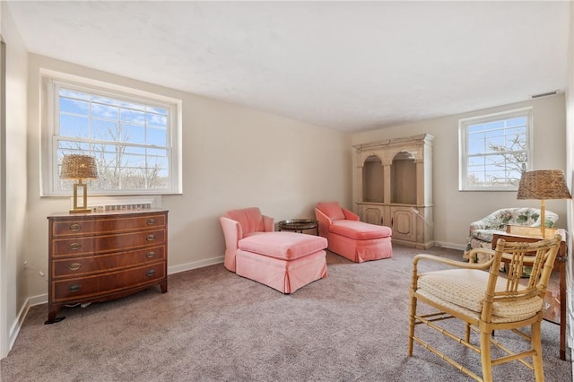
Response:
POLYGON ((561 169, 541 169, 522 173, 518 184, 517 199, 540 199, 540 227, 546 233, 545 199, 571 199, 566 179, 561 169))

